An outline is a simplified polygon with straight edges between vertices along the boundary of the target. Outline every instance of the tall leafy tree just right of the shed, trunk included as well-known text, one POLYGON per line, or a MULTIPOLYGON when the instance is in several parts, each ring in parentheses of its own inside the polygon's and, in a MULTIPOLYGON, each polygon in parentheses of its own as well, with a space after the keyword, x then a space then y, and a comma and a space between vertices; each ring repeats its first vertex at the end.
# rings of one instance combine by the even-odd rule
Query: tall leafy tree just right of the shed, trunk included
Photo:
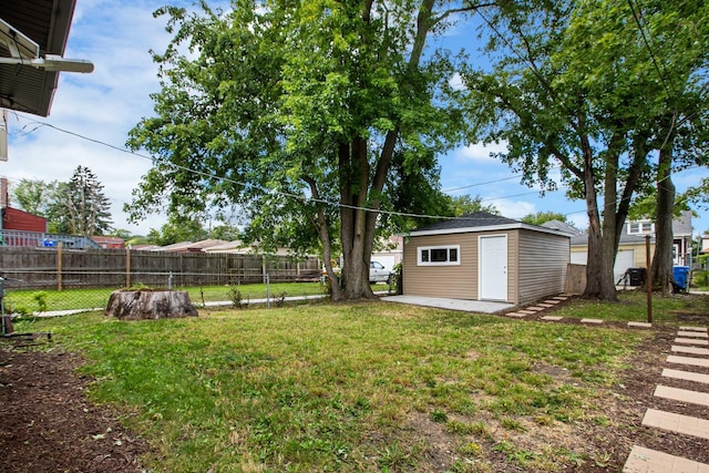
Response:
MULTIPOLYGON (((662 172, 650 152, 696 150, 689 136, 698 135, 680 130, 706 115, 696 85, 706 62, 707 7, 532 0, 501 3, 485 19, 493 71, 464 74, 472 109, 487 124, 480 137, 506 142, 501 157, 543 189, 556 188, 551 169, 561 167, 569 197, 586 202, 586 296, 614 299, 613 266, 631 198, 662 172), (686 114, 692 106, 697 113, 686 114)), ((667 184, 669 175, 656 182, 667 184)))

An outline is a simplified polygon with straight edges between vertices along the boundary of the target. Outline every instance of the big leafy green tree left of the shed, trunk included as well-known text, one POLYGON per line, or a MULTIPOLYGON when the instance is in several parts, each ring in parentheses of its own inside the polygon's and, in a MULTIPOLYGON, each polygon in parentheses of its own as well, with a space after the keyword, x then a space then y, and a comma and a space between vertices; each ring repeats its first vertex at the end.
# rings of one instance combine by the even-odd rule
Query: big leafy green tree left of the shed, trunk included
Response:
POLYGON ((156 158, 129 210, 141 218, 165 199, 173 215, 240 205, 246 236, 319 246, 331 281, 332 249, 341 248, 343 288, 332 285, 333 299, 372 297, 379 212, 397 209, 398 185, 431 184, 435 156, 469 126, 463 92, 449 84, 459 59, 424 50, 452 13, 474 8, 236 0, 228 12, 161 9, 175 37, 154 54, 156 116, 129 140, 156 158))

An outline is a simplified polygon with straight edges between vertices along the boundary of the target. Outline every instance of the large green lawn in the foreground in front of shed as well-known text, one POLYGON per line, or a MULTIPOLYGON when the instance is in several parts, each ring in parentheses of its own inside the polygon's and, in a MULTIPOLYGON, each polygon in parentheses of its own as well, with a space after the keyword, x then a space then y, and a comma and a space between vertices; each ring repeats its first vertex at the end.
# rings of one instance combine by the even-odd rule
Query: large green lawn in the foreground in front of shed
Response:
MULTIPOLYGON (((658 317, 682 305, 670 298, 658 317)), ((623 319, 638 306, 564 315, 623 319)), ((146 466, 165 472, 602 466, 613 446, 584 435, 614 425, 619 373, 651 337, 386 302, 137 322, 93 312, 31 329, 84 354, 90 395, 126 413, 151 445, 146 466)))

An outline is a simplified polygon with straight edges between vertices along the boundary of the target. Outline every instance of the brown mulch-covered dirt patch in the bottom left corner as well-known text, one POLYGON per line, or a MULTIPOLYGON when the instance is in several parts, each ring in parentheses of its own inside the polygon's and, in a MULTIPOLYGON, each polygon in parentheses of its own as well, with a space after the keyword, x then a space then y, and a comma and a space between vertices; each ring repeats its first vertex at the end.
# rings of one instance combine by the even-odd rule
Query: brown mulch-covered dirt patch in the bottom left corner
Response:
POLYGON ((0 471, 141 472, 144 443, 86 400, 80 364, 59 350, 0 345, 0 471))

